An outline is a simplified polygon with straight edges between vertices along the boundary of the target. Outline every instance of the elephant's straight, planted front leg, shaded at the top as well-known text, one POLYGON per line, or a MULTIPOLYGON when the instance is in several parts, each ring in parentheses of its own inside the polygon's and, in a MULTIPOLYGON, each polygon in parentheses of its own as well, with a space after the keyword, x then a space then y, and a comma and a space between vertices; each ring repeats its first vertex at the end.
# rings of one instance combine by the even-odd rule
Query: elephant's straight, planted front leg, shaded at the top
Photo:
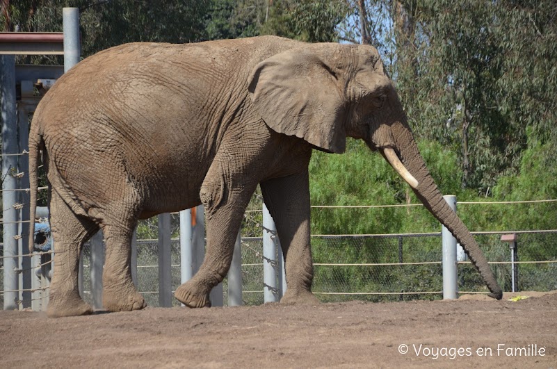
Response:
POLYGON ((312 294, 314 277, 309 242, 309 180, 307 169, 289 177, 261 183, 261 191, 275 220, 286 269, 286 293, 280 302, 318 304, 312 294))

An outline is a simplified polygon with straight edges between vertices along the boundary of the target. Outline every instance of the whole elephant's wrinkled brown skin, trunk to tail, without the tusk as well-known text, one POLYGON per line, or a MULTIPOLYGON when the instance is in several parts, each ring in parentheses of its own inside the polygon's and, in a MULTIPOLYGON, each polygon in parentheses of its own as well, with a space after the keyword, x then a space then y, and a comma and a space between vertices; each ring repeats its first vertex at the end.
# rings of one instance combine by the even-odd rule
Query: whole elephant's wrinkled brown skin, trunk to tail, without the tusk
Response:
POLYGON ((207 253, 175 297, 209 306, 258 183, 286 259, 282 302, 315 303, 307 167, 312 149, 342 153, 346 136, 385 157, 394 149, 419 183, 417 196, 500 299, 481 250, 423 163, 376 49, 260 37, 124 44, 86 58, 45 95, 29 151, 31 187, 40 150, 51 186, 56 268, 48 315, 92 311, 79 297, 78 262, 99 228, 106 238, 104 307, 145 307, 130 272, 138 219, 198 204, 207 216, 207 253))

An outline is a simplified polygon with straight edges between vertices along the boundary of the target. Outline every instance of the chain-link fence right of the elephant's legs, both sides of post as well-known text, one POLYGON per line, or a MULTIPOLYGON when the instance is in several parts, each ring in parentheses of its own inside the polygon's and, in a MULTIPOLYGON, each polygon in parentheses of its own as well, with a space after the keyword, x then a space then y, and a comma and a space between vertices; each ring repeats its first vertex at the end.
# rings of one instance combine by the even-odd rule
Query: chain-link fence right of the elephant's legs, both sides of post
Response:
MULTIPOLYGON (((557 232, 517 233, 517 290, 557 289, 557 232)), ((511 254, 503 233, 476 233, 503 291, 511 290, 511 254)), ((313 291, 321 301, 442 298, 440 233, 312 238, 313 291)), ((458 265, 461 293, 487 292, 473 265, 458 265)))

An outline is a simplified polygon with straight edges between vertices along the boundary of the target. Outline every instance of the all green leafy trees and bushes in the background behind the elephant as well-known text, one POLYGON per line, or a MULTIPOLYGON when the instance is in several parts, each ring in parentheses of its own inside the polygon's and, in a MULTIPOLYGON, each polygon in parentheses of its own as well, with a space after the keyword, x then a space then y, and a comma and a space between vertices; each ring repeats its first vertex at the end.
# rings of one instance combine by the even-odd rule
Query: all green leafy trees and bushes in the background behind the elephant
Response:
MULTIPOLYGON (((83 56, 131 41, 195 42, 261 34, 309 42, 371 42, 394 79, 443 193, 460 201, 557 197, 557 6, 551 0, 19 0, 3 1, 13 31, 61 31, 81 13, 83 56)), ((24 63, 60 63, 51 56, 24 63)), ((312 204, 403 204, 414 195, 378 155, 348 140, 316 151, 312 204)), ((260 199, 257 201, 259 206, 260 199)), ((259 208, 255 206, 256 208, 259 208)), ((479 229, 553 228, 554 203, 461 206, 479 229)), ((254 215, 259 216, 259 215, 254 215)), ((250 221, 251 222, 251 221, 250 221)), ((257 220, 252 223, 257 224, 257 220)), ((314 233, 437 231, 423 208, 314 209, 314 233)), ((150 227, 145 234, 150 233, 150 227)))

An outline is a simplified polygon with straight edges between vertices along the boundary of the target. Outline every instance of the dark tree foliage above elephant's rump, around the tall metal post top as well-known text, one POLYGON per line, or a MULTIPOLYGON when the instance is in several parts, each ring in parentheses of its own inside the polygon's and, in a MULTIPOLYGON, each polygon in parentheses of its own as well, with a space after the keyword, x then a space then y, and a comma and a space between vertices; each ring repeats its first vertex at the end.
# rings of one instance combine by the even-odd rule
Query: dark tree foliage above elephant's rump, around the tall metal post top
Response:
MULTIPOLYGON (((81 54, 87 57, 125 42, 203 40, 210 5, 211 0, 4 0, 0 22, 9 31, 60 32, 62 8, 79 8, 81 54)), ((47 57, 34 61, 60 63, 47 57)))

